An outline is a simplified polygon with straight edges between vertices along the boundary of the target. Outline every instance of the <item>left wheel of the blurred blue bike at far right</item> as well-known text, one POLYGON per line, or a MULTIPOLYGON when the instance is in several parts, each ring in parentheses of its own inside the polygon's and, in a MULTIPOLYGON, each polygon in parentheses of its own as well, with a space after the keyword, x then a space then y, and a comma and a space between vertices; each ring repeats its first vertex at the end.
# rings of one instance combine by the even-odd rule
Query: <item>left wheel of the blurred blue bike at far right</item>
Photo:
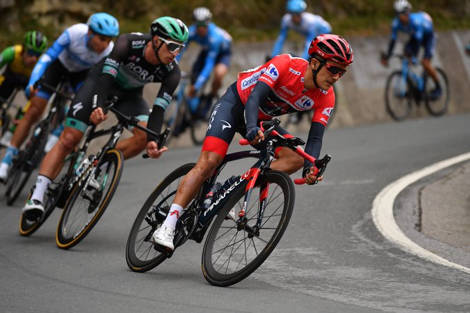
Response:
POLYGON ((403 80, 402 71, 396 70, 391 73, 385 85, 385 105, 388 114, 393 120, 404 120, 411 113, 412 102, 413 95, 408 82, 403 80))

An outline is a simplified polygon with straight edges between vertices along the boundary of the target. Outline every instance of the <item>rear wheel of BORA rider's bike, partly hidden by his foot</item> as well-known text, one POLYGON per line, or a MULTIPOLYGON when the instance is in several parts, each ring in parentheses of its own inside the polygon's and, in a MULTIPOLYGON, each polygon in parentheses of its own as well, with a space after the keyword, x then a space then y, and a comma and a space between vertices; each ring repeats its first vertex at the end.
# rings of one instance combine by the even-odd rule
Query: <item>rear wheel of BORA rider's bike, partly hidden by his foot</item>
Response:
MULTIPOLYGON (((69 175, 71 171, 73 171, 73 164, 75 163, 75 160, 77 158, 76 154, 71 155, 71 158, 66 158, 66 162, 64 163, 64 166, 62 167, 62 172, 59 173, 59 176, 57 177, 62 177, 63 173, 66 173, 69 175), (66 169, 66 172, 64 172, 64 169, 66 169)), ((63 186, 57 185, 56 188, 63 188, 63 186)), ((59 191, 62 193, 62 190, 59 191)), ((39 220, 39 221, 30 221, 27 220, 23 214, 21 214, 19 218, 19 234, 21 236, 30 236, 41 227, 41 225, 46 222, 50 214, 54 211, 55 206, 57 205, 57 190, 51 189, 51 187, 48 187, 48 191, 46 191, 46 195, 44 196, 44 217, 39 220), (53 196, 55 195, 55 196, 53 196)), ((30 198, 30 197, 28 197, 30 198)))

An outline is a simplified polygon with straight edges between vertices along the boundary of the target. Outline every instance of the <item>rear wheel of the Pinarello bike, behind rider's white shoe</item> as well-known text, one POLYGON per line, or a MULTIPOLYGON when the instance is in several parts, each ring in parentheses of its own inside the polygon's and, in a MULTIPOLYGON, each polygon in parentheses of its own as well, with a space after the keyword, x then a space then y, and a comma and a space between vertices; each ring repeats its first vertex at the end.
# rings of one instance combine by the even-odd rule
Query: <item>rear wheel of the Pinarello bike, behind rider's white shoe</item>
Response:
POLYGON ((165 254, 153 249, 151 240, 153 232, 162 224, 165 218, 165 216, 158 214, 158 211, 169 211, 182 178, 195 165, 194 163, 185 164, 171 172, 152 191, 142 209, 140 209, 126 244, 126 262, 133 272, 147 272, 167 259, 165 254), (158 203, 155 204, 156 201, 158 203), (146 218, 151 218, 151 220, 146 220, 146 218))

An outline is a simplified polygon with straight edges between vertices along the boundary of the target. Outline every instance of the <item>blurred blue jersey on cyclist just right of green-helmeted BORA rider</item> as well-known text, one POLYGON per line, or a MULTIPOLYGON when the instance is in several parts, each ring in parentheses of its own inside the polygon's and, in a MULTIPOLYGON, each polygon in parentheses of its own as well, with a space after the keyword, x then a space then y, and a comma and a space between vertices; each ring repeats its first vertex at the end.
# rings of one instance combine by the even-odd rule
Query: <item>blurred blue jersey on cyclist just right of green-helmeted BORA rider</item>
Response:
MULTIPOLYGON (((216 64, 216 58, 219 53, 223 53, 231 49, 232 37, 228 32, 216 26, 216 24, 209 23, 209 26, 207 26, 207 36, 205 37, 198 36, 196 32, 196 25, 189 26, 189 37, 187 45, 191 41, 195 41, 203 48, 203 50, 207 51, 204 68, 201 70, 198 78, 196 79, 196 82, 194 83, 194 86, 197 90, 203 86, 207 79, 209 79, 212 73, 212 69, 216 64)), ((185 50, 186 48, 183 49, 182 52, 176 57, 177 61, 180 60, 182 53, 184 53, 185 50)))

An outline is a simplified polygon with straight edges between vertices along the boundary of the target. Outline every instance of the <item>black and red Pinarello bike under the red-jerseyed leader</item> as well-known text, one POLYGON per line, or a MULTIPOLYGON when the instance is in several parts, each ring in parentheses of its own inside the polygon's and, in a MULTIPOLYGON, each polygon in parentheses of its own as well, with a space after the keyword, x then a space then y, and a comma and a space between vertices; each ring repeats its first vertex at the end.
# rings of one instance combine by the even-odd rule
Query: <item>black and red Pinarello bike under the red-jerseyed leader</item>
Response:
MULTIPOLYGON (((265 149, 227 154, 178 218, 173 241, 176 249, 188 239, 202 242, 212 223, 202 258, 203 274, 212 285, 229 286, 249 276, 271 254, 288 226, 294 207, 294 184, 287 173, 270 169, 275 149, 287 147, 315 162, 320 169, 318 176, 323 174, 331 159, 326 155, 314 160, 301 149, 305 144, 303 140, 286 138, 274 131, 279 122, 274 119, 261 124, 266 136, 274 136, 266 139, 269 142, 265 149), (243 158, 259 160, 241 176, 229 178, 212 198, 206 198, 218 184, 216 179, 225 164, 243 158)), ((247 144, 247 141, 241 140, 241 143, 247 144)), ((174 250, 167 252, 155 245, 152 235, 166 218, 182 178, 194 165, 182 165, 164 178, 135 218, 126 245, 126 261, 132 271, 147 272, 173 255, 174 250)), ((294 182, 301 184, 305 180, 294 182)))

